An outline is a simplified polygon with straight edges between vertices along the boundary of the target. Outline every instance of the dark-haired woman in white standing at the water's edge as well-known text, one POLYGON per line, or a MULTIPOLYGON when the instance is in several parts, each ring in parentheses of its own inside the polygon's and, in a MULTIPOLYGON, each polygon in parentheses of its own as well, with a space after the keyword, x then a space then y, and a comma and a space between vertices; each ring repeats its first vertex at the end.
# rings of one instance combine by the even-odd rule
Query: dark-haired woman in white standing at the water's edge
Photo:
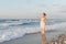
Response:
POLYGON ((46 13, 43 13, 41 16, 41 34, 45 34, 45 22, 46 22, 46 13))

